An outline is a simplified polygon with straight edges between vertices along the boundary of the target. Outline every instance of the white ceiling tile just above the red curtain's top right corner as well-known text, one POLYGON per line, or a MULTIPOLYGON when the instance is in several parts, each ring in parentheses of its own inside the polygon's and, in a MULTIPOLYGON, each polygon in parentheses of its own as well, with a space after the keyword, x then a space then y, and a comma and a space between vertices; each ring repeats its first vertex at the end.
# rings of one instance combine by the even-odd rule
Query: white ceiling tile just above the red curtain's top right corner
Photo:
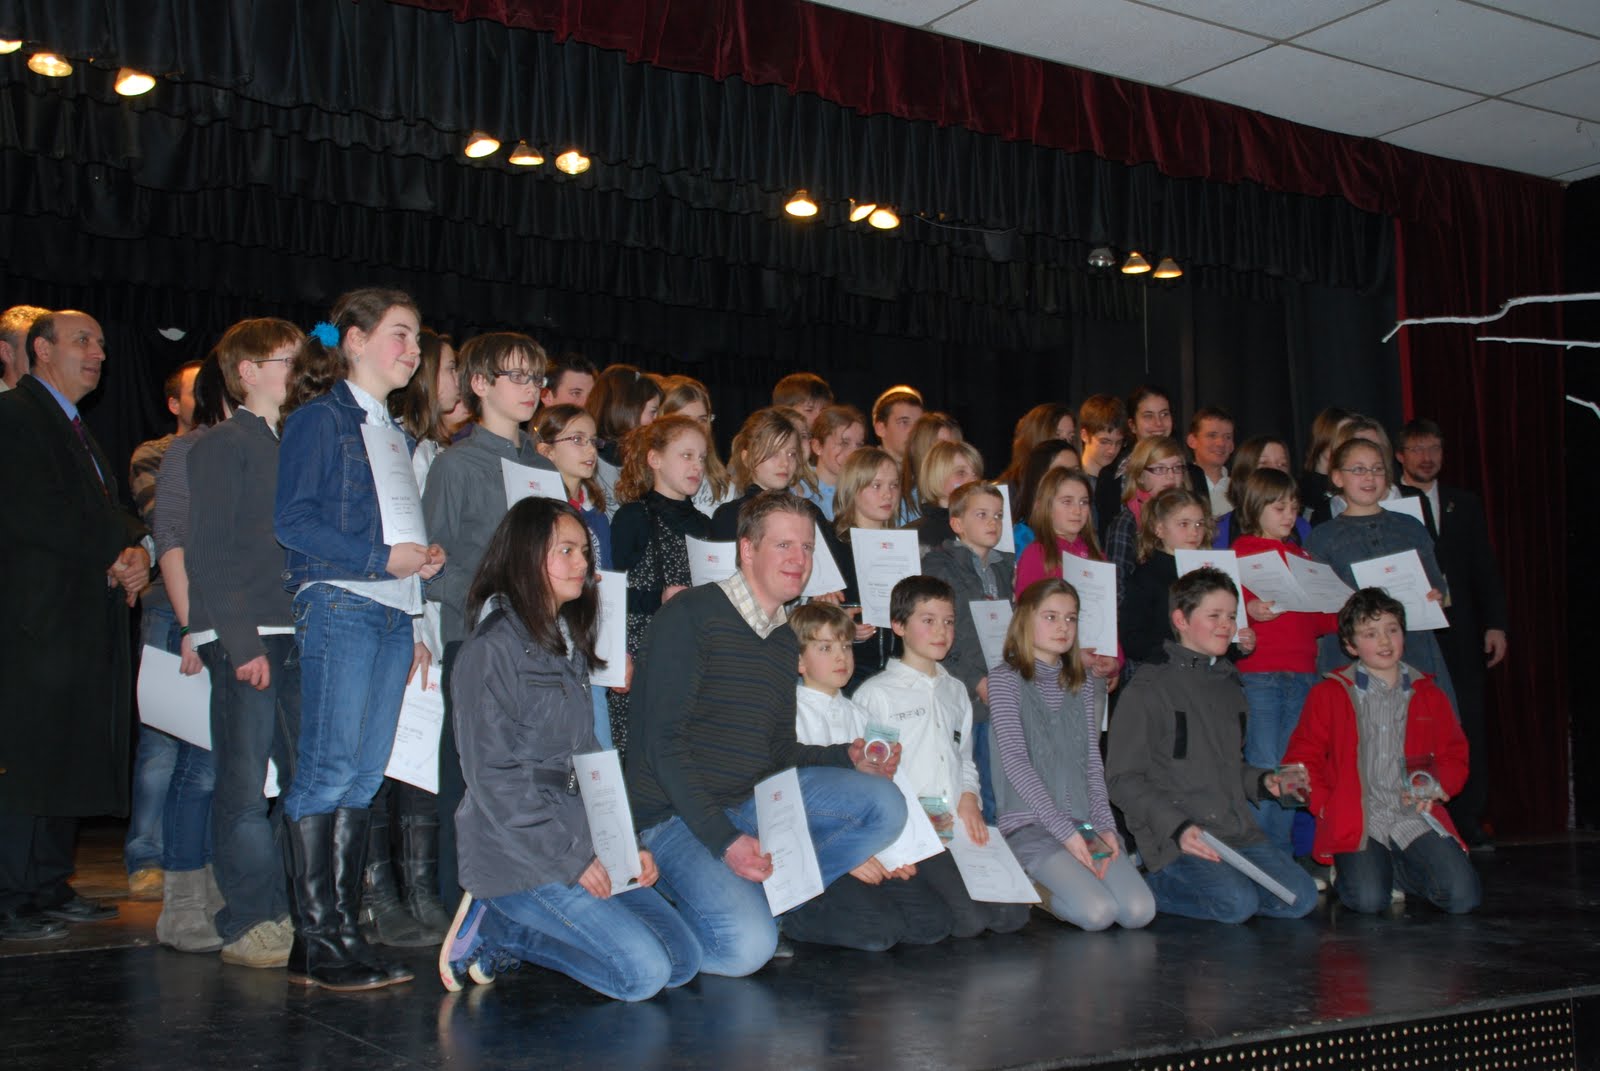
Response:
POLYGON ((1600 160, 1600 126, 1506 101, 1483 101, 1384 141, 1547 178, 1600 160))

